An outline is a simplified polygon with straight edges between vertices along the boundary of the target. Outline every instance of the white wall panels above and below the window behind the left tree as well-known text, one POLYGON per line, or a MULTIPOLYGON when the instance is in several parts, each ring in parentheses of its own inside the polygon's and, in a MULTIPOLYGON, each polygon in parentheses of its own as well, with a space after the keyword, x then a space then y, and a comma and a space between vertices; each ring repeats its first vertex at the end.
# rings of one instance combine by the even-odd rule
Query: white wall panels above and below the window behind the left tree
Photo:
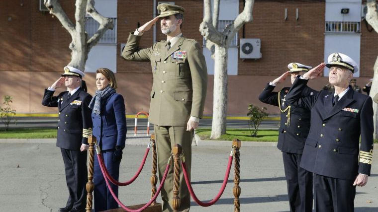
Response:
MULTIPOLYGON (((96 0, 96 10, 105 17, 117 17, 117 0, 96 0)), ((116 30, 114 26, 113 30, 116 30)), ((117 44, 97 44, 89 55, 86 63, 86 72, 95 72, 98 68, 108 68, 117 72, 117 44)))

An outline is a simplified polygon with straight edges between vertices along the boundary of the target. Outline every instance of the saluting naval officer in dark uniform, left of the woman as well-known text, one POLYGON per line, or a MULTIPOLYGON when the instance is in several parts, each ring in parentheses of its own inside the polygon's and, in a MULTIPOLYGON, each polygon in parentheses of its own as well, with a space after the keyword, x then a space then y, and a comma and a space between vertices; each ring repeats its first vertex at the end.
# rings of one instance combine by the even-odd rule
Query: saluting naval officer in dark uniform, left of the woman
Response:
POLYGON ((42 105, 58 107, 58 135, 66 170, 69 191, 67 205, 59 212, 84 212, 87 204, 87 149, 88 136, 92 135, 92 110, 88 107, 92 96, 81 87, 84 73, 73 67, 65 67, 64 74, 51 87, 45 89, 42 105), (67 91, 53 96, 63 85, 67 91))

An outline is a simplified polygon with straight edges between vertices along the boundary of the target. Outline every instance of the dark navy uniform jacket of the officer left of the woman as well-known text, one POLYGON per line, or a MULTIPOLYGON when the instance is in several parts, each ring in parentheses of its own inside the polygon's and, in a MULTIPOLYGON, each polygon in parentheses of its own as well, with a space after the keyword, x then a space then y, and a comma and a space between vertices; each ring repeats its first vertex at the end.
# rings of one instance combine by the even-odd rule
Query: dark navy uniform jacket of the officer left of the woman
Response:
POLYGON ((42 105, 58 107, 58 147, 79 150, 82 143, 88 144, 92 135, 92 110, 88 107, 92 96, 79 88, 68 100, 68 91, 53 96, 54 91, 45 89, 42 105))

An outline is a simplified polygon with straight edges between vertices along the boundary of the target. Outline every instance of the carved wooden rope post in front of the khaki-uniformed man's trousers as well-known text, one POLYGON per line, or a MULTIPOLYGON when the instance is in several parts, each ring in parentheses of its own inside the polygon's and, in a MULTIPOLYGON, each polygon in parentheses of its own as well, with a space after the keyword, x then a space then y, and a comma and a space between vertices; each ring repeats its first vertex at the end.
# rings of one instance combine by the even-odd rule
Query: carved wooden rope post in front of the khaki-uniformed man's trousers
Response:
POLYGON ((183 148, 180 144, 176 144, 172 149, 173 160, 174 160, 174 170, 173 170, 173 200, 172 207, 174 212, 178 212, 180 208, 180 155, 183 148))

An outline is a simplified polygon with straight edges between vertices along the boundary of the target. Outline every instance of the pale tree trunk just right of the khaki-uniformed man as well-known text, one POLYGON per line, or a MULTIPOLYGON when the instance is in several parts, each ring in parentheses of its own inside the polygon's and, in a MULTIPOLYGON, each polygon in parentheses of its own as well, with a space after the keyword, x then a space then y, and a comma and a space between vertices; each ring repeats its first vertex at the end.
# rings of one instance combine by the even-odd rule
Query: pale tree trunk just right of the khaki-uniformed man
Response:
POLYGON ((226 134, 227 115, 227 48, 215 45, 214 100, 210 139, 226 134))

